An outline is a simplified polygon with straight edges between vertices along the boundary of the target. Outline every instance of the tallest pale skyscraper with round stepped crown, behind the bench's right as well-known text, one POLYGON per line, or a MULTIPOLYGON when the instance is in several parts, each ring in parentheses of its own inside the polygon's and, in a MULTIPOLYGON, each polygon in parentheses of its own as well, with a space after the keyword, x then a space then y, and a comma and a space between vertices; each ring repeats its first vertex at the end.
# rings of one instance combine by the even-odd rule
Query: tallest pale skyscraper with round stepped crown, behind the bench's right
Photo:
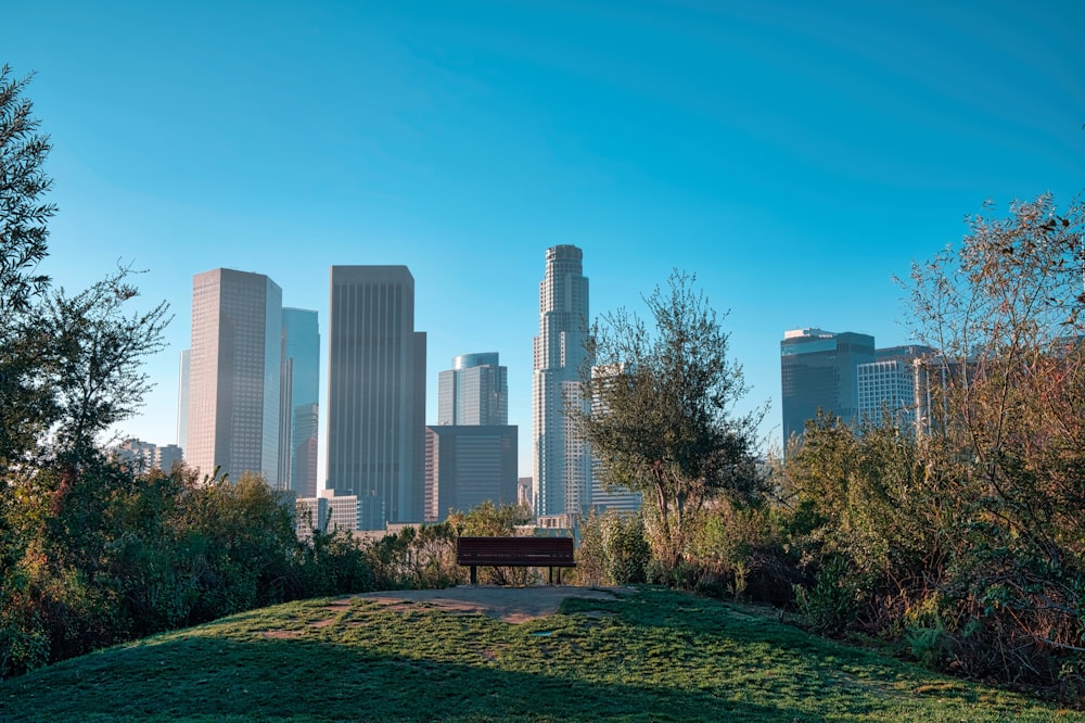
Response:
POLYGON ((535 513, 582 511, 591 492, 591 459, 575 433, 566 404, 584 404, 579 375, 588 325, 588 279, 583 252, 573 245, 547 249, 539 283, 539 335, 532 380, 535 513))

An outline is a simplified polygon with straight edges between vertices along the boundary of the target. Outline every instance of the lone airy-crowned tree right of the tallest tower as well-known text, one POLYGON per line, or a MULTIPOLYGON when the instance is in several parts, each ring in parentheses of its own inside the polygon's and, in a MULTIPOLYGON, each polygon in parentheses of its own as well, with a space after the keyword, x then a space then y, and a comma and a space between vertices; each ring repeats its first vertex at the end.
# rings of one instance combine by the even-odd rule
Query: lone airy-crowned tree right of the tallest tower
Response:
POLYGON ((641 492, 653 555, 668 570, 687 551, 690 524, 717 495, 750 499, 757 484, 756 428, 765 409, 737 414, 748 389, 727 358, 722 318, 694 277, 675 270, 644 297, 654 329, 624 308, 591 328, 582 373, 589 404, 573 418, 600 460, 604 485, 641 492))

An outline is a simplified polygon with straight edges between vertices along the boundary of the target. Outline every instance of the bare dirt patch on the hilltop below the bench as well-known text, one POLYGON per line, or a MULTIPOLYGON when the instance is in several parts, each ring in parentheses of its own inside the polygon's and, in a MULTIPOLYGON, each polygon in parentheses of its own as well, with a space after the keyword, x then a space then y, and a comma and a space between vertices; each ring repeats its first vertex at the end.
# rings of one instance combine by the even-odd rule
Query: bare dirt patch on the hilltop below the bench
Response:
POLYGON ((540 587, 497 587, 470 585, 446 589, 406 589, 386 593, 366 593, 359 597, 379 600, 388 606, 425 601, 450 612, 481 612, 505 622, 520 623, 535 618, 552 616, 566 597, 585 597, 613 600, 635 594, 628 587, 574 587, 546 585, 540 587))

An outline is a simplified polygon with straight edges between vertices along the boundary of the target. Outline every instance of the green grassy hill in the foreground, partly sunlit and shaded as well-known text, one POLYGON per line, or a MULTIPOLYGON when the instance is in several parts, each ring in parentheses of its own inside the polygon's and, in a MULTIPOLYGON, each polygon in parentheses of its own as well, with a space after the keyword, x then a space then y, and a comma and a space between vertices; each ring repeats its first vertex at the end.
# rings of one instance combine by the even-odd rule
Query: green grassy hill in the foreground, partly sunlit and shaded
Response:
POLYGON ((0 684, 0 721, 1085 721, 662 589, 513 625, 315 599, 0 684))

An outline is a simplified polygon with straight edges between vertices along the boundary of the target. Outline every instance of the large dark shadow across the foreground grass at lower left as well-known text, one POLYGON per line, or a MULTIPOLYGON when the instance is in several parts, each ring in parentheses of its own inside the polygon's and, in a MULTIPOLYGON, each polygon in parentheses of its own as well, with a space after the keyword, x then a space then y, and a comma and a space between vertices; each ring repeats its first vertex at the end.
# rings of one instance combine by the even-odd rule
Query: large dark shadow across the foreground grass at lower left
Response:
POLYGON ((369 654, 307 639, 182 637, 67 661, 0 686, 0 720, 814 720, 661 689, 369 654))

